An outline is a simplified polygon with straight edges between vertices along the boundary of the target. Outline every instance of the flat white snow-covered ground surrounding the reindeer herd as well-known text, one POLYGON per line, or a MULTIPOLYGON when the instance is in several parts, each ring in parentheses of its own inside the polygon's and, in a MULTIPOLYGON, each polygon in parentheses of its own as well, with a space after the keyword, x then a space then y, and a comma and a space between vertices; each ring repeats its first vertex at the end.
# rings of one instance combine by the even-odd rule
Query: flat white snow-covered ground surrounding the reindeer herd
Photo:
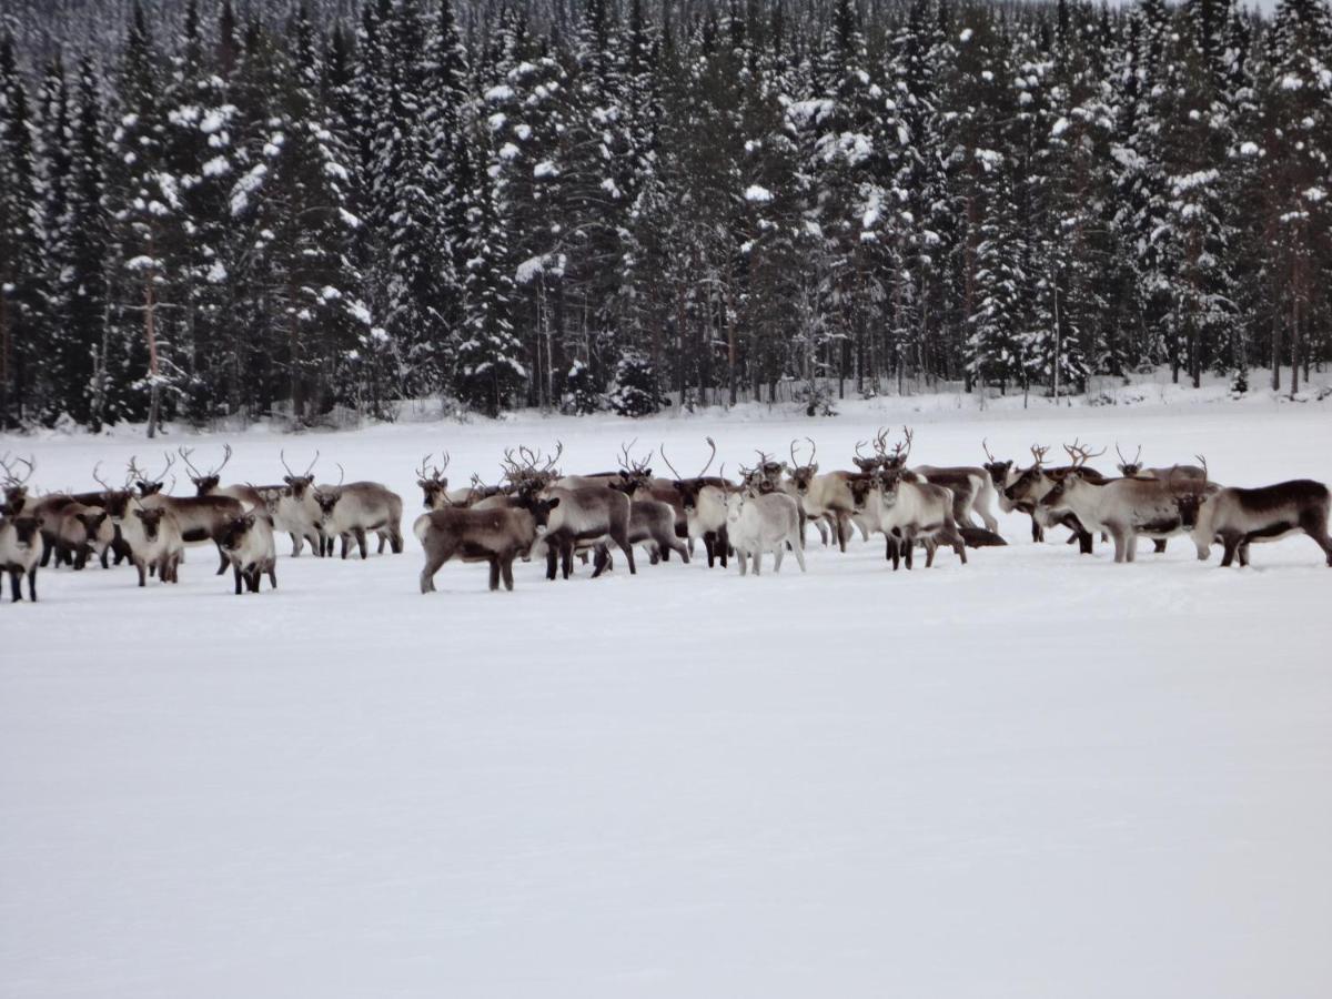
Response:
MULTIPOLYGON (((165 444, 226 440, 256 482, 318 448, 322 477, 400 489, 409 526, 428 450, 465 482, 518 442, 597 470, 638 436, 689 474, 705 433, 729 472, 810 434, 834 468, 904 418, 932 464, 1076 434, 1201 452, 1236 485, 1332 481, 1328 404, 1263 400, 165 444)), ((7 448, 47 488, 160 452, 7 448)), ((533 563, 492 594, 449 565, 422 597, 410 535, 282 558, 258 597, 202 550, 178 587, 43 573, 40 603, 0 607, 0 995, 1332 994, 1321 553, 1223 571, 1176 541, 1116 566, 1002 523, 1011 547, 910 574, 855 539, 811 542, 805 575, 533 563)))

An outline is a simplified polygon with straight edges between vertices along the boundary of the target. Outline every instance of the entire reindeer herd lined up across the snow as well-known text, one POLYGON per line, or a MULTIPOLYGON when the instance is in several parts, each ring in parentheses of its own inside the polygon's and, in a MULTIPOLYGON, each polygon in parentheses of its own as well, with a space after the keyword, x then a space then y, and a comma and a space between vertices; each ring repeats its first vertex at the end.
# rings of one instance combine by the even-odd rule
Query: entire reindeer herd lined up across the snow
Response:
MULTIPOLYGON (((1106 476, 1088 462, 1104 454, 1078 441, 1064 445, 1066 465, 1050 465, 1047 446, 1031 448, 1031 464, 996 458, 982 441, 986 461, 975 466, 908 466, 914 434, 903 428, 890 446, 888 432, 862 441, 850 456, 854 470, 819 472, 818 449, 806 438, 803 461, 799 442, 790 445, 790 461, 757 452, 758 461, 739 466, 738 480, 726 477, 725 464, 709 476, 717 460, 717 444, 695 476, 682 476, 658 453, 673 478, 654 477, 653 454, 638 460, 633 445, 621 449, 614 472, 563 474, 554 454, 519 446, 506 450, 502 478, 496 485, 473 476, 462 489, 450 489, 449 456, 432 464, 426 456, 417 470, 425 513, 413 533, 425 551, 421 591, 434 590, 434 575, 450 559, 485 562, 490 589, 513 589, 515 559, 545 557, 546 578, 567 579, 575 559, 591 561, 595 578, 613 569, 621 554, 630 574, 637 574, 635 547, 651 563, 671 555, 689 562, 698 543, 707 566, 739 562, 741 574, 762 571, 765 554, 779 571, 790 551, 805 571, 806 533, 814 525, 826 546, 846 551, 855 531, 864 541, 884 538, 884 557, 894 570, 912 567, 914 551, 924 551, 934 563, 940 546, 952 549, 962 563, 968 547, 1004 545, 994 507, 1031 518, 1034 541, 1046 530, 1066 526, 1068 542, 1091 553, 1098 537, 1115 547, 1116 562, 1134 562, 1138 539, 1150 538, 1156 551, 1167 539, 1188 534, 1200 559, 1213 543, 1223 546, 1221 565, 1239 558, 1248 565, 1249 545, 1304 533, 1319 543, 1332 566, 1328 537, 1328 488, 1312 480, 1292 480, 1260 489, 1224 488, 1208 476, 1207 461, 1144 468, 1142 448, 1132 460, 1115 448, 1118 476, 1106 476), (872 448, 872 450, 867 450, 872 448), (979 521, 979 523, 978 523, 979 521)), ((354 549, 365 559, 369 538, 402 551, 402 497, 378 482, 346 482, 338 465, 336 484, 314 482, 314 465, 297 474, 280 461, 286 474, 281 484, 222 485, 221 473, 230 461, 225 446, 222 462, 206 472, 192 461, 193 450, 180 448, 165 454, 156 474, 131 460, 124 481, 108 482, 101 465, 92 478, 100 486, 85 493, 52 492, 36 496, 28 482, 36 460, 0 458, 4 503, 0 506, 0 571, 11 578, 13 601, 35 601, 39 567, 84 569, 89 559, 104 569, 128 562, 147 586, 156 575, 163 583, 178 581, 186 546, 213 546, 217 574, 232 569, 237 594, 258 593, 266 575, 277 586, 277 542, 286 534, 292 555, 309 545, 316 557, 332 557, 334 541, 346 558, 354 549), (177 458, 184 464, 194 496, 172 496, 166 489, 177 458)), ((170 480, 174 485, 174 478, 170 480)))

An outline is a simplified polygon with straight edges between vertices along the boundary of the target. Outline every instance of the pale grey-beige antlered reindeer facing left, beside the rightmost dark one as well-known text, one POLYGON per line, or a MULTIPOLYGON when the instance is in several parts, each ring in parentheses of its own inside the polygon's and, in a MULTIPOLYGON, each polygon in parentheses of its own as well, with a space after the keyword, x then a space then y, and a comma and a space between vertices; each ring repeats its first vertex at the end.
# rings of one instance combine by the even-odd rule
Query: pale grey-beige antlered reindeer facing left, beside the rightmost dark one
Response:
MULTIPOLYGON (((1116 478, 1094 482, 1079 474, 1090 458, 1104 454, 1088 452, 1078 441, 1066 444, 1072 460, 1068 474, 1055 482, 1040 498, 1040 507, 1054 515, 1072 513, 1091 530, 1107 531, 1115 542, 1115 561, 1138 559, 1138 537, 1166 538, 1185 529, 1177 496, 1185 484, 1148 478, 1116 478)), ((1193 489, 1195 484, 1187 484, 1193 489)), ((1201 488, 1205 490, 1205 486, 1201 488)))

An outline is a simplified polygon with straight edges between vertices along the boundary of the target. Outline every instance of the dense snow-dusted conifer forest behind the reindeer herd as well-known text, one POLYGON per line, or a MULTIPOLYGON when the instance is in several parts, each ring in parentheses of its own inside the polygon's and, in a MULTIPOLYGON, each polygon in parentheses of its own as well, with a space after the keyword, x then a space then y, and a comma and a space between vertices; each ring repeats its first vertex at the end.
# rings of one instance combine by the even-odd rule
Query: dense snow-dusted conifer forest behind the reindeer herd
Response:
POLYGON ((65 8, 0 20, 7 426, 1329 353, 1327 0, 65 8))

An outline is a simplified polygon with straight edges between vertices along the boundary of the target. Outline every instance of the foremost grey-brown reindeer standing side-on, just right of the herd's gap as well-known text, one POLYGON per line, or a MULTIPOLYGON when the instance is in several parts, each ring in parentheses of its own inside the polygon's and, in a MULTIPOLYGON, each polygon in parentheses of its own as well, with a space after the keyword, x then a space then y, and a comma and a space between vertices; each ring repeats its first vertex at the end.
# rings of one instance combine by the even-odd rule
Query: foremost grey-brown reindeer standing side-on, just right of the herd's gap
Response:
POLYGON ((521 502, 513 509, 445 507, 417 517, 412 531, 425 549, 421 593, 434 593, 434 574, 454 557, 489 562, 490 589, 498 590, 503 578, 505 589, 513 590, 513 561, 527 557, 561 501, 530 496, 521 502))

